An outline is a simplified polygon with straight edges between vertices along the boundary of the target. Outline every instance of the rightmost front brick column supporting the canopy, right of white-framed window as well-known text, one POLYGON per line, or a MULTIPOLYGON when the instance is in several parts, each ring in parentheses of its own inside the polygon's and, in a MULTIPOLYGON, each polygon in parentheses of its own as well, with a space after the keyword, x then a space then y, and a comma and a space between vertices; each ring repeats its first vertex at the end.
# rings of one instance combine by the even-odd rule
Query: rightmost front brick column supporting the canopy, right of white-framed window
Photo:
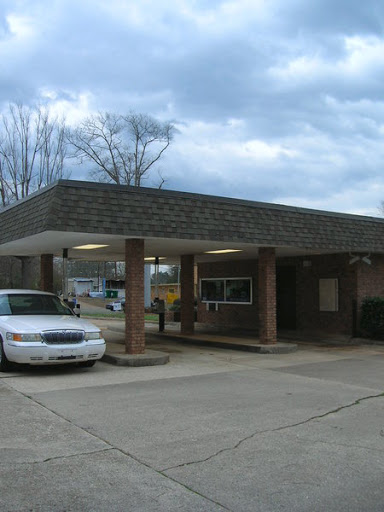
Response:
POLYGON ((260 343, 276 343, 276 257, 274 247, 259 249, 259 326, 260 343))

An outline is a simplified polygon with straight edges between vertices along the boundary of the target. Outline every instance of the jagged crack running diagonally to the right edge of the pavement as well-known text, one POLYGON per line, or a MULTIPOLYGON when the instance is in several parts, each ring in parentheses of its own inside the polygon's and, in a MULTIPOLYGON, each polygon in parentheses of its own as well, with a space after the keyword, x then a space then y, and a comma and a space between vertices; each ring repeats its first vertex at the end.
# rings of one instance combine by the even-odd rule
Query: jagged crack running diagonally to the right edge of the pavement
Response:
POLYGON ((161 472, 163 471, 170 471, 172 469, 177 469, 177 468, 182 468, 182 467, 185 467, 185 466, 192 466, 194 464, 201 464, 203 462, 207 462, 211 459, 214 459, 215 457, 221 455, 222 453, 225 453, 225 452, 228 452, 228 451, 232 451, 232 450, 237 450, 237 448, 239 448, 239 446, 241 446, 243 443, 245 443, 246 441, 249 441, 250 439, 260 435, 260 434, 268 434, 268 433, 271 433, 271 432, 279 432, 281 430, 287 430, 287 429, 290 429, 290 428, 295 428, 295 427, 299 427, 301 425, 305 425, 306 423, 310 423, 311 421, 315 421, 315 420, 319 420, 319 419, 322 419, 322 418, 325 418, 327 416, 330 416, 331 414, 336 414, 344 409, 348 409, 350 407, 354 407, 356 405, 359 405, 360 402, 363 402, 365 400, 370 400, 370 399, 373 399, 373 398, 384 398, 384 392, 383 393, 379 393, 378 395, 370 395, 370 396, 365 396, 365 397, 362 397, 362 398, 358 398, 357 400, 355 400, 354 402, 351 402, 350 404, 347 404, 347 405, 342 405, 340 407, 337 407, 336 409, 332 409, 331 411, 328 411, 328 412, 325 412, 323 414, 319 414, 317 416, 312 416, 311 418, 308 418, 306 420, 303 420, 303 421, 299 421, 297 423, 291 423, 290 425, 284 425, 282 427, 277 427, 277 428, 273 428, 273 429, 266 429, 266 430, 259 430, 257 432, 253 432, 253 434, 250 434, 249 436, 247 437, 244 437, 243 439, 240 439, 240 441, 238 441, 234 446, 230 446, 228 448, 222 448, 221 450, 217 451, 216 453, 213 453, 212 455, 209 455, 208 457, 206 457, 205 459, 200 459, 200 460, 194 460, 194 461, 191 461, 191 462, 184 462, 183 464, 178 464, 176 466, 170 466, 168 468, 163 468, 161 469, 161 472))

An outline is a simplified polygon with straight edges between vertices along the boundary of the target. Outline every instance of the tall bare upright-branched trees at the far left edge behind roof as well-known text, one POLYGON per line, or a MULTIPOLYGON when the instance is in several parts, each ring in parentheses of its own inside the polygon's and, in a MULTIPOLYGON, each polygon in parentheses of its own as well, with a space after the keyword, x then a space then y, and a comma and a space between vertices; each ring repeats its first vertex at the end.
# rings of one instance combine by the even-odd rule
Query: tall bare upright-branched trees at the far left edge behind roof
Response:
POLYGON ((65 121, 48 108, 10 104, 0 118, 2 205, 64 177, 65 121))

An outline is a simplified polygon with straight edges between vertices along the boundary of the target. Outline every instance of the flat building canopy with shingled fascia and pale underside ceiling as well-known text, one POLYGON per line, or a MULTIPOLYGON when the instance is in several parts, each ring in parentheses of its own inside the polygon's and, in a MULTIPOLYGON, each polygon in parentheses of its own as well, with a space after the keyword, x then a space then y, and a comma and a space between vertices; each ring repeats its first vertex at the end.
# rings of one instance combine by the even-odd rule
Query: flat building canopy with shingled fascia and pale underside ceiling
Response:
POLYGON ((60 180, 0 211, 0 255, 124 259, 124 240, 145 240, 145 257, 177 263, 337 252, 384 253, 384 220, 122 185, 60 180), (79 246, 96 245, 91 250, 79 246), (236 253, 207 251, 236 249, 236 253))

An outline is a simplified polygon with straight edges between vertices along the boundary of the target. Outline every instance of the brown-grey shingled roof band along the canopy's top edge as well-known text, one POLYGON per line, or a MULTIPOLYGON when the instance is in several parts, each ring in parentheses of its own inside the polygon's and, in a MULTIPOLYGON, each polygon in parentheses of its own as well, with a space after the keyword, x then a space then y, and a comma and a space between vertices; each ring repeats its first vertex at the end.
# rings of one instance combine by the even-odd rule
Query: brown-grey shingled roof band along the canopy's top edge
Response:
POLYGON ((70 180, 0 211, 0 249, 45 231, 384 252, 383 219, 70 180))

